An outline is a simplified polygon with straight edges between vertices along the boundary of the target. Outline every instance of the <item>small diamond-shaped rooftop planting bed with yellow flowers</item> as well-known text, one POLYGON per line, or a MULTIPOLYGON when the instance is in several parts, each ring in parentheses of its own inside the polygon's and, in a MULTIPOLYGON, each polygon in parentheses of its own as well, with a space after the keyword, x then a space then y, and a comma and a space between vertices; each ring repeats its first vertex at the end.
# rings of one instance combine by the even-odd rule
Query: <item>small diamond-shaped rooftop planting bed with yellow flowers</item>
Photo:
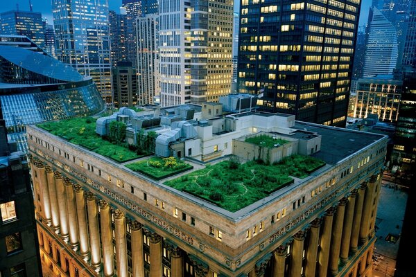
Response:
POLYGON ((129 163, 125 165, 135 172, 140 172, 152 179, 160 180, 166 177, 177 175, 193 168, 193 166, 177 160, 174 157, 159 158, 153 157, 146 161, 138 161, 136 163, 129 163))

